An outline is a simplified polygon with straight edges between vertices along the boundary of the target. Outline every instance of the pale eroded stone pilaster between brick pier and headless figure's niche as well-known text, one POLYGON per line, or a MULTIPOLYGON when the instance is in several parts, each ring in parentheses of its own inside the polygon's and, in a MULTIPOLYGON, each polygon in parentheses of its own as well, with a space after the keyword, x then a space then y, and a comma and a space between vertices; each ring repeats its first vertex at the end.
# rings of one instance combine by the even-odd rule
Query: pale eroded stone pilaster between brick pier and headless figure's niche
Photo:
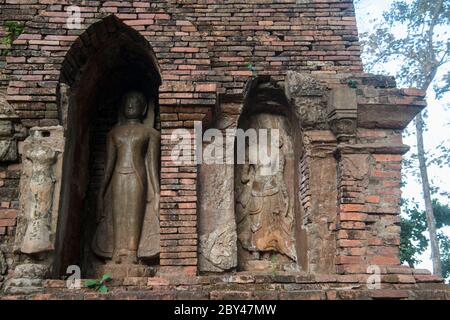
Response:
MULTIPOLYGON (((215 127, 227 146, 234 144, 241 108, 239 101, 219 105, 215 127)), ((223 272, 237 266, 233 157, 224 150, 223 164, 204 163, 199 169, 200 271, 223 272)))

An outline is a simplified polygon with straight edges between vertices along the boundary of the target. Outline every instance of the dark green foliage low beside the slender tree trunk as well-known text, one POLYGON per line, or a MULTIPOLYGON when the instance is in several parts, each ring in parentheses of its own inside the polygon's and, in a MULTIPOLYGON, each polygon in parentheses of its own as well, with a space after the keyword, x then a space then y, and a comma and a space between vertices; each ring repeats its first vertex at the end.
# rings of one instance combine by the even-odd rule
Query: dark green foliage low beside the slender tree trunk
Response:
MULTIPOLYGON (((427 230, 426 215, 418 209, 417 204, 406 203, 406 218, 401 218, 400 234, 400 260, 411 267, 420 263, 417 256, 428 248, 428 239, 424 235, 427 230)), ((450 206, 433 200, 433 211, 436 219, 436 228, 439 230, 450 226, 450 206)), ((438 231, 439 247, 441 249, 442 275, 450 277, 450 238, 442 231, 438 231)))

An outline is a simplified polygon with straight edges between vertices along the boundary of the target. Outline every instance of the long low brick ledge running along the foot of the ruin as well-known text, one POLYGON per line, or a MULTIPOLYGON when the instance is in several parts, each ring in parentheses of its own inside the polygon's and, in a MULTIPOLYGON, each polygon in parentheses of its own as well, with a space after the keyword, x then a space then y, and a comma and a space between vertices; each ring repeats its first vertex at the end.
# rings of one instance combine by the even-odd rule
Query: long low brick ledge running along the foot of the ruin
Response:
POLYGON ((82 288, 70 290, 64 280, 45 280, 40 293, 0 293, 0 300, 450 300, 450 286, 430 274, 383 274, 376 289, 368 287, 368 276, 240 272, 216 276, 113 277, 105 294, 85 287, 85 281, 81 282, 82 288))

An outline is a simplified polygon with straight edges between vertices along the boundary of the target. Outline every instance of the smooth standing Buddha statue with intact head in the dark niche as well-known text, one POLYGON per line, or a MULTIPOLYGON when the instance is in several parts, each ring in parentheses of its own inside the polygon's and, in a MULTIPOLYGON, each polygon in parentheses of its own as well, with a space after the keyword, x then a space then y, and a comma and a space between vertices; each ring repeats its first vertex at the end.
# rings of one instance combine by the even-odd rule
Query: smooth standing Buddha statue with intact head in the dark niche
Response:
MULTIPOLYGON (((159 132, 142 123, 146 98, 124 96, 123 123, 108 134, 105 176, 99 193, 95 254, 135 264, 159 254, 159 132)), ((148 110, 153 123, 154 107, 148 110)))

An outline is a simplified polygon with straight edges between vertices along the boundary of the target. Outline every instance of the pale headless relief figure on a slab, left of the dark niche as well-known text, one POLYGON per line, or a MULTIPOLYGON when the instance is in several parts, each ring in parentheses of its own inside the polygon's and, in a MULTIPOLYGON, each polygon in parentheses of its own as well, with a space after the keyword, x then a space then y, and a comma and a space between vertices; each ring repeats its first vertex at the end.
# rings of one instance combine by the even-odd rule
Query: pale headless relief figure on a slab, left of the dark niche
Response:
POLYGON ((9 293, 39 290, 51 274, 64 154, 61 126, 34 127, 23 142, 20 211, 14 252, 17 262, 6 284, 9 293))

